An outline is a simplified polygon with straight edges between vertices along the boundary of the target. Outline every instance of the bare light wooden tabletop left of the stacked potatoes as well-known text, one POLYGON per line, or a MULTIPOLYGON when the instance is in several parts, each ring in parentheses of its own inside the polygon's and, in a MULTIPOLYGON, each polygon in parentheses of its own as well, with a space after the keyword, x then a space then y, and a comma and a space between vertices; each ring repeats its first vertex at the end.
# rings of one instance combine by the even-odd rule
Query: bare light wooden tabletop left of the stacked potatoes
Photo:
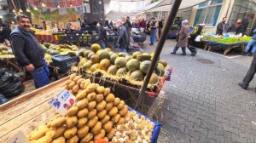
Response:
POLYGON ((68 78, 62 78, 0 106, 0 142, 7 142, 19 131, 27 135, 38 125, 47 123, 55 115, 48 101, 64 89, 68 78))

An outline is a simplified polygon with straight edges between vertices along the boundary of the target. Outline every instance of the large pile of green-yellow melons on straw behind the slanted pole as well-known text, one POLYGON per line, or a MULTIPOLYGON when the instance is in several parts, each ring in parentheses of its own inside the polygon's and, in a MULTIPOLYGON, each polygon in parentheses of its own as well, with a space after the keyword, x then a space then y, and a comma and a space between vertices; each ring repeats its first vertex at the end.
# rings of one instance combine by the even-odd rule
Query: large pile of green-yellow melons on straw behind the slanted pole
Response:
MULTIPOLYGON (((134 52, 114 53, 111 49, 102 49, 97 43, 91 45, 91 50, 80 49, 81 56, 79 70, 86 72, 103 72, 104 76, 125 77, 128 81, 143 82, 154 54, 134 52)), ((164 60, 158 62, 150 79, 150 84, 159 82, 165 74, 167 63, 164 60)))

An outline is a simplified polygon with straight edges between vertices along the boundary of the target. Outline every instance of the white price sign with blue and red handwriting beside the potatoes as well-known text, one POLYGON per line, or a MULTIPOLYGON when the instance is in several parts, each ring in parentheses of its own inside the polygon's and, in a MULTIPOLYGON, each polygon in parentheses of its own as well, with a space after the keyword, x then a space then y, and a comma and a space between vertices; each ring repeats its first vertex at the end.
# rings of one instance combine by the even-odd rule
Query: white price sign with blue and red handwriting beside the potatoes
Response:
POLYGON ((67 110, 75 104, 75 100, 75 96, 67 89, 64 89, 61 93, 56 94, 54 98, 49 100, 49 105, 53 106, 62 116, 65 116, 67 110))

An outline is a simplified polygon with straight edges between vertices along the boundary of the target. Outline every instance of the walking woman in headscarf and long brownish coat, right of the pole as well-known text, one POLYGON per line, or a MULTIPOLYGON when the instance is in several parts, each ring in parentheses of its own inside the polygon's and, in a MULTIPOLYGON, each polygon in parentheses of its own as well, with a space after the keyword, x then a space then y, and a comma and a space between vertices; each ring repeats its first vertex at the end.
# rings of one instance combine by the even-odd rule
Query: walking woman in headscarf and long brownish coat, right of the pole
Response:
POLYGON ((171 54, 176 54, 177 49, 181 47, 183 50, 183 54, 181 55, 186 55, 186 47, 188 46, 188 37, 189 37, 189 21, 183 20, 182 28, 180 29, 180 31, 178 31, 177 45, 175 46, 171 54))

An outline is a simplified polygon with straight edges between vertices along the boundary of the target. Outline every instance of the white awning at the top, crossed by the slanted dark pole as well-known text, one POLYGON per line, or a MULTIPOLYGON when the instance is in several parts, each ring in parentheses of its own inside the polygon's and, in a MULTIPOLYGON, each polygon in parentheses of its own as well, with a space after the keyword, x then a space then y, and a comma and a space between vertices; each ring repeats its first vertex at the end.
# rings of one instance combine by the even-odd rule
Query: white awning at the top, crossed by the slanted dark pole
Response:
MULTIPOLYGON (((189 8, 205 1, 206 0, 183 0, 179 9, 189 8)), ((154 6, 153 8, 145 11, 146 12, 170 11, 171 8, 172 8, 172 0, 166 0, 164 3, 160 3, 154 6)))

